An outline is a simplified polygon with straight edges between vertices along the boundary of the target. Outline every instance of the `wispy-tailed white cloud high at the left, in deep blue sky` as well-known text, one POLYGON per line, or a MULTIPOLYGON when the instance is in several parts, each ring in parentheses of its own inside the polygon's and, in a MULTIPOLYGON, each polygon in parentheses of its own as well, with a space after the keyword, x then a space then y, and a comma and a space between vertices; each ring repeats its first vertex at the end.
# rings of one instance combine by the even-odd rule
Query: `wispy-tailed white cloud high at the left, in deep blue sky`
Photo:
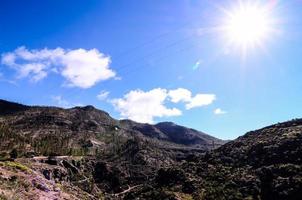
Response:
POLYGON ((57 72, 66 79, 65 85, 90 88, 100 81, 115 77, 115 72, 109 66, 110 57, 97 49, 28 50, 19 47, 2 54, 1 62, 15 69, 18 78, 29 77, 34 82, 42 80, 50 72, 57 72))

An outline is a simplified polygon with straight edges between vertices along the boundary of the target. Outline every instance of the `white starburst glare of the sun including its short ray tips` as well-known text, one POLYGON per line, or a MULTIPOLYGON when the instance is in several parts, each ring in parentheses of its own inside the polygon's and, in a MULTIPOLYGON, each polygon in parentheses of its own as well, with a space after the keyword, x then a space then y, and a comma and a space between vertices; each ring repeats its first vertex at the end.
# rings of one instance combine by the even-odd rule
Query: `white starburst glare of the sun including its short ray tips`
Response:
POLYGON ((275 1, 266 4, 237 1, 231 9, 220 7, 224 14, 220 29, 229 48, 239 49, 246 57, 249 50, 263 47, 266 40, 277 32, 272 14, 275 6, 275 1))

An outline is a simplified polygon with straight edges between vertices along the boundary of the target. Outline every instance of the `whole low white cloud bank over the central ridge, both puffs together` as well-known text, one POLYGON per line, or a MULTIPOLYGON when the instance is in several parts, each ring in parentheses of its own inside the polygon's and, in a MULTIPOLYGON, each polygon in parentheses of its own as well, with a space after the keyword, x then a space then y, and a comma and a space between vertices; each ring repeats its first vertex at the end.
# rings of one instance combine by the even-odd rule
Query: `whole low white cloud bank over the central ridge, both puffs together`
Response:
POLYGON ((179 116, 182 111, 178 108, 168 108, 167 102, 184 103, 187 110, 206 106, 215 100, 214 94, 197 94, 192 97, 191 91, 178 88, 166 90, 156 88, 150 91, 132 90, 123 98, 111 100, 114 108, 121 117, 137 122, 153 123, 156 117, 179 116))

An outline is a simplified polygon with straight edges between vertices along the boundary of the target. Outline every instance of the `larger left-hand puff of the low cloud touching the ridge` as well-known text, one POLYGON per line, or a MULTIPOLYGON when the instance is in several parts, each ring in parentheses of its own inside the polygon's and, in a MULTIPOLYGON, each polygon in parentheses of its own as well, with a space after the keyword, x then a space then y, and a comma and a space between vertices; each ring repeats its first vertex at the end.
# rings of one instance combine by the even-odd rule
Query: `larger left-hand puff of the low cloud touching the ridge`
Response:
POLYGON ((182 112, 177 108, 167 108, 164 105, 168 92, 156 88, 147 92, 132 90, 123 98, 111 102, 120 115, 142 123, 153 123, 154 117, 179 116, 182 112))

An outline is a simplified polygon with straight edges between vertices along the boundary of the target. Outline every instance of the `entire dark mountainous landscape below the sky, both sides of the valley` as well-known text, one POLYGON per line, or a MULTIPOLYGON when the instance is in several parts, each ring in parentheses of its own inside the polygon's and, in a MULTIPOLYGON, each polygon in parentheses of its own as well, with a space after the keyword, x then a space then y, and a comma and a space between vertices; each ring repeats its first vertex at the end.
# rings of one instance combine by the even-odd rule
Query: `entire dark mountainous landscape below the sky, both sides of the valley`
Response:
POLYGON ((302 199, 302 119, 225 143, 92 106, 0 111, 0 199, 302 199))

